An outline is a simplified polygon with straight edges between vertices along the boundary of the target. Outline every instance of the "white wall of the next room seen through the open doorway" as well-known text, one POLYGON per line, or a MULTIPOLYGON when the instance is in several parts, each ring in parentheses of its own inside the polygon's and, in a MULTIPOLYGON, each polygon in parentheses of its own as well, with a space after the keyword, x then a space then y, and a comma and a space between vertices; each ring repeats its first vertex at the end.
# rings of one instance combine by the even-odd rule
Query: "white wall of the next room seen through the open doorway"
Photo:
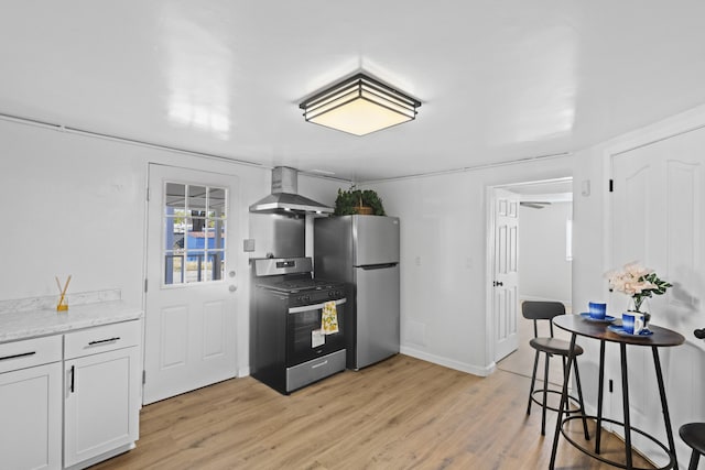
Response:
POLYGON ((566 260, 566 221, 573 203, 519 208, 519 298, 571 304, 572 262, 566 260))

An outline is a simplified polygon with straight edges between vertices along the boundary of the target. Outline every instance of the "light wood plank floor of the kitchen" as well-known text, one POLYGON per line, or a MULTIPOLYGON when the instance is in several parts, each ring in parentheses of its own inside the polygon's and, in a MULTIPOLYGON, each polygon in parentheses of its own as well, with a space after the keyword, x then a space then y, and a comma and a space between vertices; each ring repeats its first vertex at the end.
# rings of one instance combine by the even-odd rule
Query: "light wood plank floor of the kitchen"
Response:
MULTIPOLYGON (((95 468, 546 469, 555 414, 542 437, 528 390, 519 374, 478 378, 402 354, 290 396, 234 379, 145 406, 137 448, 95 468)), ((622 449, 604 439, 604 455, 622 449)), ((556 468, 608 467, 561 439, 556 468)))

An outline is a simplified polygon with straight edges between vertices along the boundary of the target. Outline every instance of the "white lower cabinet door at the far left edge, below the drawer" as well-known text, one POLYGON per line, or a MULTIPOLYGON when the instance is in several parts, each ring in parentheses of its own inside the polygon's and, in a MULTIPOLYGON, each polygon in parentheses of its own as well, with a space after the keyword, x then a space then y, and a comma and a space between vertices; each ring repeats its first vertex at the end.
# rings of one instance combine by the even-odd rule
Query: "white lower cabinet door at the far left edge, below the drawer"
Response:
POLYGON ((0 373, 0 468, 62 468, 62 364, 0 373))

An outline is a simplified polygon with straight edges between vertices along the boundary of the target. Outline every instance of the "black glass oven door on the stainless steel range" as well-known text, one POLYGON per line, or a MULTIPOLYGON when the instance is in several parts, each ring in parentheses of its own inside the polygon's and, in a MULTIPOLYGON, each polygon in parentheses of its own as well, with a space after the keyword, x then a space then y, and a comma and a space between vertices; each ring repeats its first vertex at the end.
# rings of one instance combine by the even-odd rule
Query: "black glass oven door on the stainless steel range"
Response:
POLYGON ((345 298, 335 302, 338 332, 324 335, 321 320, 325 303, 289 308, 286 315, 286 367, 293 367, 345 349, 345 298))

